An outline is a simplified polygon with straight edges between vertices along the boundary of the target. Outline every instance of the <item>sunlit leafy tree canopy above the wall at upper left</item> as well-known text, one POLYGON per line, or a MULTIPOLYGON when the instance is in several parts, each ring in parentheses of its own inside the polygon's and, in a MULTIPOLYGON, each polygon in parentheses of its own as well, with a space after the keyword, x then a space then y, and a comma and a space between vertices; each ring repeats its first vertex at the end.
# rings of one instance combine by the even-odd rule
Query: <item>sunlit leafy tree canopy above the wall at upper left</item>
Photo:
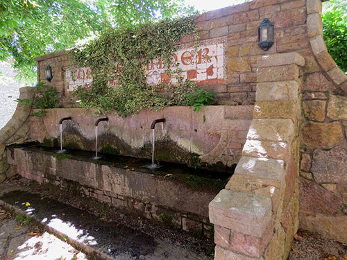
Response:
POLYGON ((69 49, 102 28, 133 26, 180 12, 183 0, 1 0, 0 60, 35 81, 34 58, 69 49))

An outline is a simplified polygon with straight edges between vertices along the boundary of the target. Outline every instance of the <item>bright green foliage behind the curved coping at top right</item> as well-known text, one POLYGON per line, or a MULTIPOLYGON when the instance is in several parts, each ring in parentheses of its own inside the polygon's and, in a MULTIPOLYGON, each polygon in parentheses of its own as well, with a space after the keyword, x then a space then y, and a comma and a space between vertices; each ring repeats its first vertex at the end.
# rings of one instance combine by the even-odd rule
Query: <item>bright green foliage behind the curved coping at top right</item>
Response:
POLYGON ((323 18, 323 37, 328 51, 337 65, 347 71, 347 15, 333 6, 323 18))

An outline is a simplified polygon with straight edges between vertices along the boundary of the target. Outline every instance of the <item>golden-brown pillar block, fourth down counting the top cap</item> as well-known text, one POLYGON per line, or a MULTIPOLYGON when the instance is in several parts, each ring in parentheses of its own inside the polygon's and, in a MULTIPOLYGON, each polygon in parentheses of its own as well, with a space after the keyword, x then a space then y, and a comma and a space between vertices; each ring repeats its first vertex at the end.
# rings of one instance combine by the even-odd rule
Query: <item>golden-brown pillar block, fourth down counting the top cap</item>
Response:
POLYGON ((254 105, 254 119, 294 119, 294 101, 257 101, 254 105))

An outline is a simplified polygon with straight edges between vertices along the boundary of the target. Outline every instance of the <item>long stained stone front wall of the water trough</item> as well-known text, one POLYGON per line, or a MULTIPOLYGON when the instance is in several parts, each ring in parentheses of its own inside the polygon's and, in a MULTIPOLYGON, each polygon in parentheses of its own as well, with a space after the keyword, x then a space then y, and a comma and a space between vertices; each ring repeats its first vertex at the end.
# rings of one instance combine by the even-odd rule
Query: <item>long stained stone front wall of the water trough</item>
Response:
POLYGON ((213 236, 208 202, 218 191, 208 185, 202 189, 185 179, 88 158, 58 158, 52 156, 54 151, 10 147, 6 155, 14 173, 27 179, 51 183, 172 227, 213 236))

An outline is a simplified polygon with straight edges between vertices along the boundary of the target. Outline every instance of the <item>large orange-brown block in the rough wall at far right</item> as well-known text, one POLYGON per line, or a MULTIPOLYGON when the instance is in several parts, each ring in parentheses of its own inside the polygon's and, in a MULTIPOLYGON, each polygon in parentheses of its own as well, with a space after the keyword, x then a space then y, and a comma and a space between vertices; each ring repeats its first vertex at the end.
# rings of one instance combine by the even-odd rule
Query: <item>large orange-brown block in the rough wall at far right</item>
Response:
POLYGON ((332 148, 344 139, 339 122, 315 123, 304 122, 301 125, 303 144, 311 148, 332 148))

